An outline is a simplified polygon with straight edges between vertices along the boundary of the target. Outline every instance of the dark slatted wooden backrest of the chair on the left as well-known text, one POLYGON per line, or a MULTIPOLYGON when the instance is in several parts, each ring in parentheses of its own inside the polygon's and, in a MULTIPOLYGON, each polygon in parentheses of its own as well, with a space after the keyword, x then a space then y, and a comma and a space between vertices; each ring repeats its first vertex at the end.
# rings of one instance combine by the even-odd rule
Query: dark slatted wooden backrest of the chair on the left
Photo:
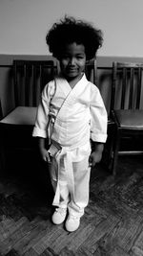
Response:
POLYGON ((15 106, 38 105, 44 85, 56 72, 53 60, 13 60, 15 106))

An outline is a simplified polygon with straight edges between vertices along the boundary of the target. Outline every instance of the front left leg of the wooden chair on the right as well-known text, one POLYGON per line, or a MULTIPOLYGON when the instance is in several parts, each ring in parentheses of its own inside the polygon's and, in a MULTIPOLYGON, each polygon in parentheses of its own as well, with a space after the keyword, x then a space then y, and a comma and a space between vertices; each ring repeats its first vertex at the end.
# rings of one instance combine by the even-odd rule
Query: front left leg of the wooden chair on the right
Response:
POLYGON ((113 159, 112 159, 112 175, 116 175, 117 161, 118 161, 118 151, 120 148, 120 130, 116 128, 114 136, 114 145, 113 145, 113 159))

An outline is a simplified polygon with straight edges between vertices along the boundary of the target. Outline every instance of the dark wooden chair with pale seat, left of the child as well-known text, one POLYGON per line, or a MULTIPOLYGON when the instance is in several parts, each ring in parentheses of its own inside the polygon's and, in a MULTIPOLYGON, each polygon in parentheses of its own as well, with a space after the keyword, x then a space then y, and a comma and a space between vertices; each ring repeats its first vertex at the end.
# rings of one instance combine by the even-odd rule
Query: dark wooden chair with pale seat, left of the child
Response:
MULTIPOLYGON (((14 60, 12 69, 14 107, 0 120, 5 155, 8 151, 34 149, 36 142, 31 133, 40 93, 57 72, 53 60, 14 60)), ((7 164, 10 158, 5 159, 7 164)))

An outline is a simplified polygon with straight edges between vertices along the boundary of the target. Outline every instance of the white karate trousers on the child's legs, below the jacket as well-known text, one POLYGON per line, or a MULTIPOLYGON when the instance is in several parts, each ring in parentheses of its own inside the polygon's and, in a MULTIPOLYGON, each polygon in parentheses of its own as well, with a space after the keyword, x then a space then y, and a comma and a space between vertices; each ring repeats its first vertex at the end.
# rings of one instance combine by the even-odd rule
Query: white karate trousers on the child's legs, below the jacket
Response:
MULTIPOLYGON (((70 153, 71 154, 71 153, 70 153)), ((51 162, 51 184, 55 192, 53 205, 69 209, 73 215, 84 214, 89 202, 91 168, 89 153, 78 162, 72 162, 66 153, 53 157, 51 162), (68 162, 66 164, 65 158, 68 162)), ((78 157, 77 157, 78 158, 78 157)))

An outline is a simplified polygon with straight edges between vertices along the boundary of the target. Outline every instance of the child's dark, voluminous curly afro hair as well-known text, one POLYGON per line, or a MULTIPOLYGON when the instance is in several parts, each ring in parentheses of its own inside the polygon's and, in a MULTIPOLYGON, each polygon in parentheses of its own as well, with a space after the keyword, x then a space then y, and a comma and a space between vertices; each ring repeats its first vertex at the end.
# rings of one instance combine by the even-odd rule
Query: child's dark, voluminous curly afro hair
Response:
POLYGON ((85 46, 87 60, 95 57, 96 51, 102 46, 102 32, 90 23, 65 16, 59 23, 54 23, 46 36, 52 56, 60 59, 66 44, 76 42, 85 46))

